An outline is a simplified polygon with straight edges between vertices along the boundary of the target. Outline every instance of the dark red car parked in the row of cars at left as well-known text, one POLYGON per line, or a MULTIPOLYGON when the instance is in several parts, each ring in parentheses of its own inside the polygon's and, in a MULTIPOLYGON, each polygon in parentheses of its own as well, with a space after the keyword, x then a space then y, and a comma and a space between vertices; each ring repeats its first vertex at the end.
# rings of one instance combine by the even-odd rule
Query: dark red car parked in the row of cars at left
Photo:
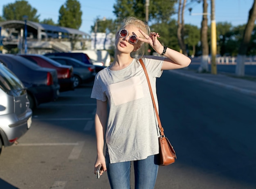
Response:
POLYGON ((60 85, 60 92, 67 91, 67 90, 74 90, 74 81, 72 80, 73 75, 73 67, 62 65, 48 57, 43 55, 19 55, 24 57, 34 64, 41 66, 43 68, 54 68, 57 70, 58 73, 58 83, 60 85))

